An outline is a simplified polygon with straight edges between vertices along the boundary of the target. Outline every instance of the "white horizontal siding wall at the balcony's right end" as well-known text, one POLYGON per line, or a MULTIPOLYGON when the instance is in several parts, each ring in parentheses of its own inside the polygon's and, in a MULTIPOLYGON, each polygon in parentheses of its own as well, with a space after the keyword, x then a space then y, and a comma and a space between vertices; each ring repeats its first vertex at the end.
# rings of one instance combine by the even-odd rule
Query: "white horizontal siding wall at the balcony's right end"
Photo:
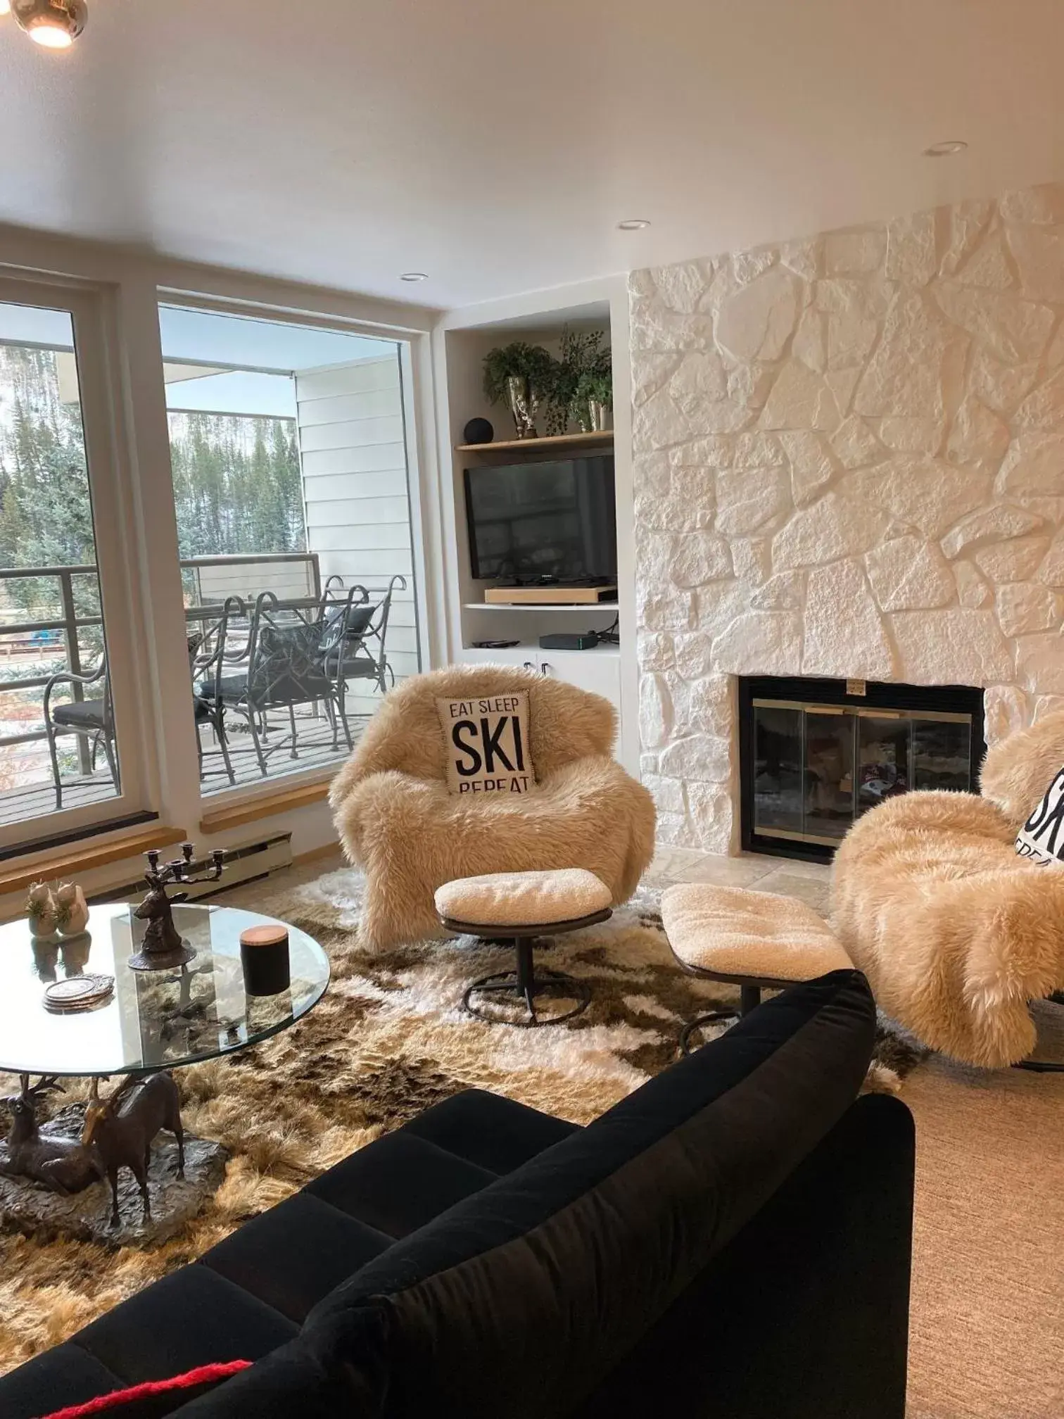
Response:
MULTIPOLYGON (((389 346, 380 359, 299 373, 295 399, 306 543, 319 555, 322 585, 339 573, 372 597, 401 573, 407 587, 393 597, 386 647, 396 678, 413 675, 420 664, 399 352, 389 346)), ((352 712, 379 702, 363 687, 352 684, 352 712)))

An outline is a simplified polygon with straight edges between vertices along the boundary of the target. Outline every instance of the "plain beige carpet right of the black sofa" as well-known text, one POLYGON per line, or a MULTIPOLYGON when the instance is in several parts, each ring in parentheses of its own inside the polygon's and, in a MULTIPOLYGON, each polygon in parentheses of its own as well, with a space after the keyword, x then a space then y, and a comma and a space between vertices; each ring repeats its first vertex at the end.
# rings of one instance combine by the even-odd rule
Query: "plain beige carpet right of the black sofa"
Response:
POLYGON ((909 1419, 1061 1419, 1064 1076, 932 1060, 904 1098, 918 1148, 909 1419))

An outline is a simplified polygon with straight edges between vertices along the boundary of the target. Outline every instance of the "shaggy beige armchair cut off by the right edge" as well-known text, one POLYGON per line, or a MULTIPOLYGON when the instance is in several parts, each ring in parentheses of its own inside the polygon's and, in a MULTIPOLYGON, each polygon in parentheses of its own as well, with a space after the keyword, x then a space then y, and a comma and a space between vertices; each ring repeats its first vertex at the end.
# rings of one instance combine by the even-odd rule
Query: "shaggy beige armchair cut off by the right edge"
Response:
POLYGON ((1064 990, 1064 868, 1013 846, 1061 765, 1064 714, 1047 715, 989 751, 982 796, 888 799, 836 853, 833 925, 877 1003, 969 1064, 1026 1060, 1031 1002, 1064 990))

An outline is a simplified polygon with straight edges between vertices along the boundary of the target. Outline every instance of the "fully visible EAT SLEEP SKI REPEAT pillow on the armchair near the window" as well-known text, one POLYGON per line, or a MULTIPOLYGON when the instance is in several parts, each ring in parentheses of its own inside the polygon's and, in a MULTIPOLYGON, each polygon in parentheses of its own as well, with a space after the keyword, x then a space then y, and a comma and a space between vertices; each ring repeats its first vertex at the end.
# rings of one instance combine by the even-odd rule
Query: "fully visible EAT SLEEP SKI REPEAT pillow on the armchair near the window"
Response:
POLYGON ((437 700, 451 793, 528 793, 528 691, 477 700, 437 700))

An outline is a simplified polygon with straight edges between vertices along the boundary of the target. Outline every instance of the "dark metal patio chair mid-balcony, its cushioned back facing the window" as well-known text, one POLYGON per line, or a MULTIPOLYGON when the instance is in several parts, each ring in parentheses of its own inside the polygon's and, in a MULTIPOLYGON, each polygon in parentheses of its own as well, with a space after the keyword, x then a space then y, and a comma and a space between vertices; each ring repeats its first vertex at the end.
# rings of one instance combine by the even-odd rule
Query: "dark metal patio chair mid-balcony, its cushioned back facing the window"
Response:
POLYGON ((237 619, 247 619, 247 609, 234 596, 226 602, 223 612, 211 657, 214 675, 197 687, 197 695, 214 708, 217 719, 213 722, 221 722, 227 710, 244 717, 262 778, 268 772, 267 752, 281 748, 264 745, 271 710, 288 711, 289 758, 299 758, 295 707, 302 704, 323 704, 332 725, 333 749, 339 748, 340 724, 350 749, 340 691, 326 670, 329 647, 339 643, 343 622, 335 624, 321 614, 306 620, 272 592, 262 592, 255 599, 245 648, 233 653, 227 650, 227 643, 237 619), (243 661, 243 667, 233 668, 234 661, 243 661))

